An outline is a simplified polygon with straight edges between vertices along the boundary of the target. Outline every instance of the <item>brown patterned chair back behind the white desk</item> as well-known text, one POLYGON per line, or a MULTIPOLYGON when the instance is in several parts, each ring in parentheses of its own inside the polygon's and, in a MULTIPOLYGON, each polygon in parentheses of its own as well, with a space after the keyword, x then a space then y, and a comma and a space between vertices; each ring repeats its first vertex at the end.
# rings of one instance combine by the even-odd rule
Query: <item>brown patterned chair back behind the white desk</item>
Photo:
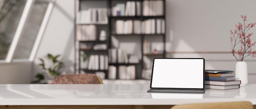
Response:
POLYGON ((103 84, 103 81, 95 74, 62 74, 51 84, 103 84))

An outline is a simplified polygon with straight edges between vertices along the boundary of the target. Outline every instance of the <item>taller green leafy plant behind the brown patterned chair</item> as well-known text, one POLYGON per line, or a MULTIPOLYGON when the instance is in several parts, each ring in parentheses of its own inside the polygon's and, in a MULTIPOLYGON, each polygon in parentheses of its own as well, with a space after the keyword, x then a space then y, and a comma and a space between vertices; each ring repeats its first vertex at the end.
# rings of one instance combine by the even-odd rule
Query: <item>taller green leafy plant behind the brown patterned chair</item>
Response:
MULTIPOLYGON (((54 78, 60 75, 60 70, 64 67, 63 59, 59 59, 59 57, 60 55, 53 56, 52 54, 47 54, 45 58, 39 58, 41 62, 39 66, 50 80, 54 80, 54 78)), ((42 79, 40 75, 36 78, 42 79)))

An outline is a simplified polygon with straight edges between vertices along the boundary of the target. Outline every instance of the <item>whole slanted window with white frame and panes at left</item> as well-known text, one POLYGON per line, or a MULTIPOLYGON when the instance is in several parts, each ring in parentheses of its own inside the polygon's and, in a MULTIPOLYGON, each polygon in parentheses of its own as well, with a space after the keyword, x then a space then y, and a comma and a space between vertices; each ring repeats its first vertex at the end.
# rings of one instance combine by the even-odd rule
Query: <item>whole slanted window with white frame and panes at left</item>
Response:
POLYGON ((52 8, 52 0, 0 0, 0 61, 33 57, 52 8))

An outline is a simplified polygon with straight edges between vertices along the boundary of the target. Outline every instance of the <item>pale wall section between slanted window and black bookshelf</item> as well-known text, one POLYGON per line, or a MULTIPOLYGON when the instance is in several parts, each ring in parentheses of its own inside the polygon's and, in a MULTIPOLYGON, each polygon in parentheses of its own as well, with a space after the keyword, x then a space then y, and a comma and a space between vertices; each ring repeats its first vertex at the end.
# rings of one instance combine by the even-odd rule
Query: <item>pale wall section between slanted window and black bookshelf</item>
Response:
POLYGON ((40 72, 39 58, 47 53, 61 54, 65 65, 63 73, 74 72, 74 0, 56 0, 35 57, 33 75, 40 72))

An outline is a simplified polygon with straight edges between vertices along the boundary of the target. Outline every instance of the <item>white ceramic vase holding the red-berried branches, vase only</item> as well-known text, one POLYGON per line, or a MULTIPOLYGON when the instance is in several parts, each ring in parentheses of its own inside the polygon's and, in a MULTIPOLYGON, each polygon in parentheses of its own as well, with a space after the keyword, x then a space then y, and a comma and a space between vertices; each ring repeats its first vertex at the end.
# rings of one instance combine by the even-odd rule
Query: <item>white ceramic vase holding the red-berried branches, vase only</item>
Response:
POLYGON ((236 79, 241 80, 240 86, 245 86, 248 83, 247 63, 245 61, 238 61, 236 63, 236 79))

